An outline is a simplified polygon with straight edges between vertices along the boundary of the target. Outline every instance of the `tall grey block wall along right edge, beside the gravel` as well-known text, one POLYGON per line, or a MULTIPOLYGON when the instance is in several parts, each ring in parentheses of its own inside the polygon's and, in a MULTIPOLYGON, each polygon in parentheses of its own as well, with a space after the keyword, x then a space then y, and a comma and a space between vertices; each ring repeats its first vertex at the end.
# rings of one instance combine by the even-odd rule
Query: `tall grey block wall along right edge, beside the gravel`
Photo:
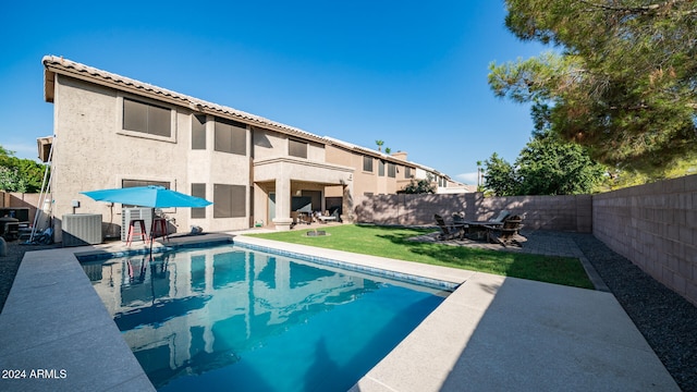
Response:
POLYGON ((594 196, 592 233, 697 305, 697 175, 594 196))

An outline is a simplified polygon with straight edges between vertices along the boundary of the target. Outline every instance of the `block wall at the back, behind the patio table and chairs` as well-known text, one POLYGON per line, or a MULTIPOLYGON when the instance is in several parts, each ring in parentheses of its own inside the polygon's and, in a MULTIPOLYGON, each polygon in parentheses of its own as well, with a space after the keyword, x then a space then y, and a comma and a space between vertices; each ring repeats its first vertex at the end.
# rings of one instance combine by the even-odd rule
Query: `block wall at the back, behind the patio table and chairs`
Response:
POLYGON ((522 216, 527 229, 582 233, 592 230, 590 195, 486 198, 481 193, 377 195, 362 197, 356 206, 359 223, 433 225, 435 213, 449 219, 453 212, 465 212, 466 220, 488 220, 505 209, 522 216))

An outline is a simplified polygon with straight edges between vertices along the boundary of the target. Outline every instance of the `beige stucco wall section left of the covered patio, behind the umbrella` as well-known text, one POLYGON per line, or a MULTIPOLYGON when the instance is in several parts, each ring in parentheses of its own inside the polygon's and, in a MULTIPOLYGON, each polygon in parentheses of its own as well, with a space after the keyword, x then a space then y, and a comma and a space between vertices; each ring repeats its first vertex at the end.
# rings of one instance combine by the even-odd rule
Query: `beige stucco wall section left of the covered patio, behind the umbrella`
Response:
MULTIPOLYGON (((124 132, 122 99, 131 95, 62 75, 56 79, 53 215, 58 242, 62 216, 73 212, 72 200, 81 204, 75 212, 101 213, 107 235, 118 233, 110 223, 121 224, 120 205, 111 209, 81 195, 83 191, 121 187, 122 180, 145 180, 169 182, 172 189, 191 194, 195 182, 207 184, 206 195, 212 200, 215 183, 248 186, 249 158, 212 151, 212 122, 207 124, 207 149, 192 150, 191 110, 137 97, 174 111, 172 137, 124 132)), ((207 207, 205 219, 193 221, 187 208, 164 212, 173 219, 171 230, 180 232, 192 224, 207 231, 248 226, 248 217, 213 219, 212 207, 207 207)))

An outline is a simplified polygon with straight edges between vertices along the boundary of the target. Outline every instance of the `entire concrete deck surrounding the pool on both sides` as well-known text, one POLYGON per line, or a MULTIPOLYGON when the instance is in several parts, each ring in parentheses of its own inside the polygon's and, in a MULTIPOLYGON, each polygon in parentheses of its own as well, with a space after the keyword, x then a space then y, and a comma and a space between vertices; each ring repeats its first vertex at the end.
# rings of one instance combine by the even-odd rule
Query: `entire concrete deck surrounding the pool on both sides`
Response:
MULTIPOLYGON (((462 283, 352 391, 680 391, 610 293, 248 236, 234 241, 462 283)), ((0 390, 154 390, 74 256, 123 249, 112 243, 25 255, 0 314, 0 390), (25 378, 8 379, 22 377, 8 370, 24 370, 25 378)))

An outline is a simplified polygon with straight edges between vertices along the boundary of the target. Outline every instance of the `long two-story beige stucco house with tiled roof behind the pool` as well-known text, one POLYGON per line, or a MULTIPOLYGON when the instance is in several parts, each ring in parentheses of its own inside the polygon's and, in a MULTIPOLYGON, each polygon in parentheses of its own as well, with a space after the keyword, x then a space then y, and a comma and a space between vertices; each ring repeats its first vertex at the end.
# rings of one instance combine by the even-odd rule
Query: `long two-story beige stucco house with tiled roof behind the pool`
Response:
POLYGON ((440 187, 452 182, 406 161, 406 152, 320 137, 59 57, 42 62, 45 99, 54 106, 59 236, 62 217, 73 212, 101 213, 107 231, 121 224, 120 205, 94 201, 84 191, 157 184, 213 201, 164 210, 179 231, 288 230, 298 207, 339 209, 351 221, 355 196, 393 194, 412 177, 440 187))

